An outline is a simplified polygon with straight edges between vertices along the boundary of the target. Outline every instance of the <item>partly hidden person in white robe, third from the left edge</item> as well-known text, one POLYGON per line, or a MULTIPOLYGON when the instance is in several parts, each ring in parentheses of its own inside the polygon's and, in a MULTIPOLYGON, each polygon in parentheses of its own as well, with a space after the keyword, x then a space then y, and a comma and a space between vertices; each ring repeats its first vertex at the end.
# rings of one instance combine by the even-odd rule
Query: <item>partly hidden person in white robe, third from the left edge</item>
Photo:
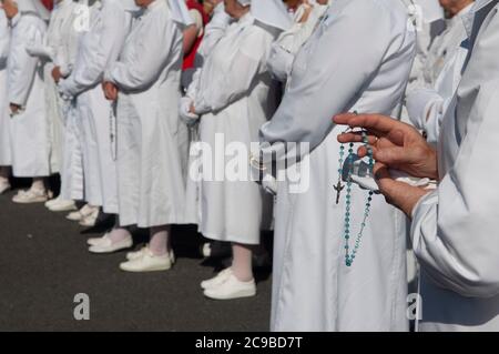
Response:
MULTIPOLYGON (((81 1, 80 1, 81 2, 81 1)), ((60 173, 64 180, 63 142, 64 142, 64 102, 59 95, 57 81, 68 77, 75 61, 79 33, 75 20, 78 2, 74 0, 57 0, 51 12, 49 29, 42 47, 28 48, 31 55, 47 61, 44 65, 45 108, 51 132, 51 166, 53 173, 60 173), (57 81, 55 81, 57 79, 57 81)), ((71 146, 70 146, 71 148, 71 146)), ((50 200, 45 206, 51 211, 62 212, 75 210, 74 201, 64 200, 61 195, 50 200)))

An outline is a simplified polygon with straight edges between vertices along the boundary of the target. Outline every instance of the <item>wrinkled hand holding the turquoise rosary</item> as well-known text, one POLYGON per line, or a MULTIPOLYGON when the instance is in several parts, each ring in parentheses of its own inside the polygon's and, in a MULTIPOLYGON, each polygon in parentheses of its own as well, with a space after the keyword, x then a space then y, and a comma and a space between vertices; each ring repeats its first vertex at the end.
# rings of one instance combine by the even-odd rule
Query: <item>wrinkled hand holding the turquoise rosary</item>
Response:
MULTIPOLYGON (((437 153, 413 127, 378 114, 340 114, 336 124, 367 130, 376 164, 374 173, 379 191, 390 204, 409 218, 417 202, 429 191, 411 186, 391 178, 389 170, 404 171, 413 176, 438 179, 437 153)), ((338 136, 340 143, 361 142, 361 135, 348 132, 338 136)), ((358 151, 367 154, 366 148, 358 151)))

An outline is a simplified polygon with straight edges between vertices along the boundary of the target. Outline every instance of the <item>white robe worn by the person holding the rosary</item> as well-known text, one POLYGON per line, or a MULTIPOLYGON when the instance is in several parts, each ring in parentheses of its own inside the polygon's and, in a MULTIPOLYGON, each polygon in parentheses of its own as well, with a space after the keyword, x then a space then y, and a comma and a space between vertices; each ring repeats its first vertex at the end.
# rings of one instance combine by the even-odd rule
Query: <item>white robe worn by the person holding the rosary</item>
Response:
POLYGON ((477 2, 477 21, 492 10, 442 121, 440 183, 414 210, 419 331, 499 331, 499 165, 491 153, 499 134, 497 3, 477 2))

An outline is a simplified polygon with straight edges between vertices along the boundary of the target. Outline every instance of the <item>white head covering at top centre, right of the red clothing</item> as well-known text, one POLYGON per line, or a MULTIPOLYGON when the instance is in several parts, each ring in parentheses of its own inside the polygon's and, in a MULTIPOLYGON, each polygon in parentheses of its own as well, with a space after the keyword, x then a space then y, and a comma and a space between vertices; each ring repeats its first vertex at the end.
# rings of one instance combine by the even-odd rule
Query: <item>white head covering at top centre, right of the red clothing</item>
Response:
POLYGON ((251 4, 252 14, 259 22, 281 30, 292 27, 293 17, 283 0, 252 0, 251 4))

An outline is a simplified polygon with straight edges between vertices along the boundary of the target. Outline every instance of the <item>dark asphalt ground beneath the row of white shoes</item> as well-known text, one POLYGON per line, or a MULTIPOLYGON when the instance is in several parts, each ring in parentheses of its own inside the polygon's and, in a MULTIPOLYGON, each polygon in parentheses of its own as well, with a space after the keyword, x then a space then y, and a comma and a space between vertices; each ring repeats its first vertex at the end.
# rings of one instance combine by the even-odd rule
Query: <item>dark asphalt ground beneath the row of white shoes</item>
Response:
MULTIPOLYGON (((195 227, 173 229, 171 271, 129 274, 118 267, 124 252, 86 251, 109 223, 84 229, 42 204, 14 204, 13 194, 0 195, 0 331, 268 331, 271 270, 256 273, 256 297, 205 299, 200 282, 227 260, 204 260, 195 227), (90 320, 74 318, 77 294, 89 296, 90 320)), ((135 247, 146 241, 134 236, 135 247)))

